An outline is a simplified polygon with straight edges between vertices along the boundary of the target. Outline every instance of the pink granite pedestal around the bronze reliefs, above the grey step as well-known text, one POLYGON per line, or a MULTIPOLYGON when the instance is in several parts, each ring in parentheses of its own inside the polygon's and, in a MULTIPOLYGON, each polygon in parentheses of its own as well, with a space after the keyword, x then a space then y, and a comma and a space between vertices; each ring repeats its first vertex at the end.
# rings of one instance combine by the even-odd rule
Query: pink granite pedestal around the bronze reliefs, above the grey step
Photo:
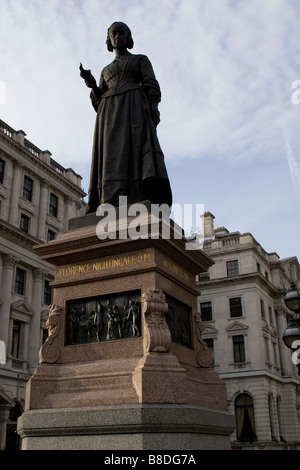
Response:
POLYGON ((36 247, 56 268, 49 337, 27 385, 26 410, 138 403, 192 404, 227 410, 225 383, 210 368, 201 338, 195 275, 213 261, 184 240, 99 240, 95 226, 36 247), (141 292, 141 336, 66 345, 66 302, 141 292), (191 309, 191 345, 172 341, 171 296, 191 309))

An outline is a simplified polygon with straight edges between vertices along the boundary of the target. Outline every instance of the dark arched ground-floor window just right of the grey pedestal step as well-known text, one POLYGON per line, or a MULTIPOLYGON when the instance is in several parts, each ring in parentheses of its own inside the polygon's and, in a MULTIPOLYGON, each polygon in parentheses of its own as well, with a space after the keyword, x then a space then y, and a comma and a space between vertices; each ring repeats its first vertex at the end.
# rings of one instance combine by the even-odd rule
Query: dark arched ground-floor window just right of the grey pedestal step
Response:
POLYGON ((255 419, 253 400, 247 393, 235 399, 236 434, 238 441, 255 441, 255 419))

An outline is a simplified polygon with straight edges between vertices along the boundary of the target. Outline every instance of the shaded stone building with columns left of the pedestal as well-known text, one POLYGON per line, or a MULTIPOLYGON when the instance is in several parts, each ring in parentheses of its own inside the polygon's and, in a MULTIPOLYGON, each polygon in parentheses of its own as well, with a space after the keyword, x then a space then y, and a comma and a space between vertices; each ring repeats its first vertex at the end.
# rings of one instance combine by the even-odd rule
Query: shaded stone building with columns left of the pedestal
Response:
POLYGON ((0 447, 15 448, 16 420, 37 367, 53 266, 33 246, 82 213, 81 176, 0 120, 0 447))

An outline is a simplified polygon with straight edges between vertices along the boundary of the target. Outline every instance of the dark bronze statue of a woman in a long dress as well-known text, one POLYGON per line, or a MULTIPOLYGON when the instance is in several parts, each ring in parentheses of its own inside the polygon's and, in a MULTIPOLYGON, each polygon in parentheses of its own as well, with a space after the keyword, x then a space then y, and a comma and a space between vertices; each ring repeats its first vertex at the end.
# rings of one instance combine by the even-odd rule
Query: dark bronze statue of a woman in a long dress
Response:
POLYGON ((117 206, 150 200, 172 204, 172 192, 159 145, 160 87, 145 55, 131 54, 131 31, 121 22, 108 29, 107 48, 115 59, 101 72, 99 86, 80 65, 97 112, 86 213, 99 204, 117 206))

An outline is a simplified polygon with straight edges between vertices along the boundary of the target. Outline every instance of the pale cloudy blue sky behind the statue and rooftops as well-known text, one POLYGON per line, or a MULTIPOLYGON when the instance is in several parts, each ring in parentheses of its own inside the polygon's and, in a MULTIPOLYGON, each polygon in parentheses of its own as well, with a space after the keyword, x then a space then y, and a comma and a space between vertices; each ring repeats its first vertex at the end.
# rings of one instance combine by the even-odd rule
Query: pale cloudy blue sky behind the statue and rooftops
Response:
POLYGON ((161 87, 174 203, 300 260, 300 2, 0 0, 0 119, 86 192, 95 111, 79 64, 98 81, 114 21, 161 87))

